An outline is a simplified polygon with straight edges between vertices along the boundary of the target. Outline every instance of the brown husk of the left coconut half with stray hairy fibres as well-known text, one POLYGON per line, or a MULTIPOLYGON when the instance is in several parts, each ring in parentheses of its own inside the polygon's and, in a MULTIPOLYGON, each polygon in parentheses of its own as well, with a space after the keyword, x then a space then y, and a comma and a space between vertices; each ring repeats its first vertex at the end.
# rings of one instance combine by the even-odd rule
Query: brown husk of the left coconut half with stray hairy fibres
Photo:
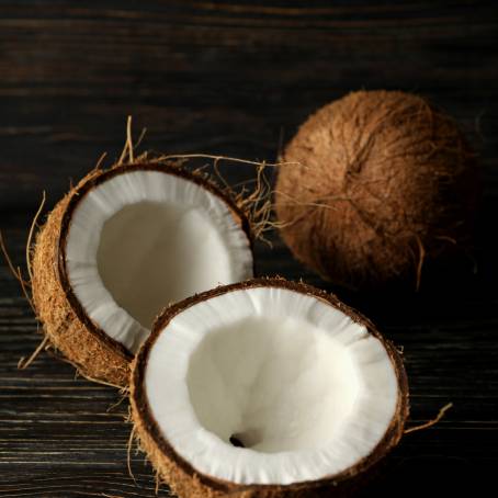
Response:
MULTIPOLYGON (((138 142, 142 140, 143 136, 144 133, 138 142)), ((43 210, 44 202, 42 203, 30 229, 26 247, 26 265, 30 279, 25 279, 21 274, 21 270, 12 265, 3 239, 1 239, 1 248, 5 253, 8 263, 22 285, 37 319, 43 325, 44 339, 41 346, 27 362, 22 359, 20 366, 27 366, 42 350, 52 348, 61 353, 86 378, 116 387, 126 387, 128 384, 133 354, 121 343, 106 336, 86 315, 72 293, 65 270, 65 240, 71 213, 82 196, 110 177, 135 169, 158 170, 180 176, 194 181, 220 197, 229 206, 234 218, 245 230, 251 246, 256 238, 263 238, 264 231, 269 229, 271 191, 268 182, 261 179, 267 167, 264 162, 200 154, 173 156, 146 151, 137 156, 135 154, 136 147, 132 139, 132 120, 128 118, 126 144, 117 162, 104 169, 105 154, 102 155, 97 166, 76 186, 71 185, 69 192, 48 214, 45 224, 35 236, 35 242, 32 244, 32 237, 37 229, 37 219, 43 210), (228 184, 220 185, 219 181, 215 181, 214 176, 204 171, 204 168, 189 169, 188 162, 194 158, 213 160, 217 173, 219 161, 252 165, 258 169, 259 180, 250 191, 246 188, 236 191, 228 184)))

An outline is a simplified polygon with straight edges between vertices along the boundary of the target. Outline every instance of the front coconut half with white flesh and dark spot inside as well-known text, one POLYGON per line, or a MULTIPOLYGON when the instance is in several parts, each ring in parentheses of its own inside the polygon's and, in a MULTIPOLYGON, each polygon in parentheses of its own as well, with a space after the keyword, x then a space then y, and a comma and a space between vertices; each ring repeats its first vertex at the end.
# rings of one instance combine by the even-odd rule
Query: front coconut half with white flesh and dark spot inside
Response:
POLYGON ((131 388, 143 449, 189 498, 349 489, 408 416, 394 346, 335 296, 283 279, 166 309, 131 388))

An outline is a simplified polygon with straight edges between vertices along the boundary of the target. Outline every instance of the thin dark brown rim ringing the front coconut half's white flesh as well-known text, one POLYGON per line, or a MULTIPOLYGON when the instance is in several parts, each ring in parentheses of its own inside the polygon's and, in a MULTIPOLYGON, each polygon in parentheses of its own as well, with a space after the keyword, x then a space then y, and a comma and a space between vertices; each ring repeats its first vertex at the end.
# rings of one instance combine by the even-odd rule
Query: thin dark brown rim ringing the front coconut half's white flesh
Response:
MULTIPOLYGON (((360 475, 371 468, 374 464, 380 462, 389 451, 396 446, 399 442, 403 432, 405 422, 408 418, 409 412, 409 389, 408 389, 408 378, 405 371, 405 365, 403 359, 397 351, 396 347, 392 341, 384 338, 381 332, 375 328, 375 326, 362 314, 355 309, 344 305, 336 295, 329 294, 322 290, 314 287, 312 285, 305 284, 303 282, 293 282, 285 280, 283 278, 259 278, 252 279, 245 282, 239 282, 229 285, 220 285, 211 291, 206 291, 194 296, 188 297, 179 303, 176 303, 162 310, 160 315, 156 318, 150 336, 142 344, 138 353, 135 356, 134 363, 132 365, 131 374, 131 399, 132 406, 135 408, 140 422, 146 428, 148 434, 152 438, 154 442, 159 448, 160 452, 171 459, 178 467, 185 472, 191 478, 199 479, 203 485, 211 487, 212 489, 218 491, 233 491, 236 488, 241 490, 254 490, 254 489, 264 489, 264 491, 278 491, 282 488, 285 489, 303 489, 312 488, 318 486, 336 486, 339 483, 347 480, 348 478, 353 478, 356 475, 360 475), (393 364, 397 384, 398 384, 398 397, 396 403, 395 414, 389 422, 388 428, 384 432, 383 438, 376 446, 363 459, 358 461, 354 465, 346 468, 339 474, 325 476, 316 480, 305 480, 291 484, 238 484, 230 480, 219 479, 206 474, 202 474, 200 471, 196 471, 189 461, 183 459, 168 442, 168 440, 162 435, 160 427, 155 419, 149 401, 147 398, 147 393, 145 389, 145 369, 147 367, 148 358, 150 350, 159 337, 163 328, 181 312, 190 308, 191 306, 206 301, 211 297, 216 297, 233 291, 244 291, 249 288, 257 287, 278 287, 288 291, 294 291, 301 294, 315 297, 325 304, 332 306, 340 312, 344 313, 349 318, 354 322, 362 325, 366 328, 367 333, 372 335, 374 338, 380 340, 382 346, 387 352, 387 355, 393 364)), ((134 426, 136 421, 134 421, 134 426)))

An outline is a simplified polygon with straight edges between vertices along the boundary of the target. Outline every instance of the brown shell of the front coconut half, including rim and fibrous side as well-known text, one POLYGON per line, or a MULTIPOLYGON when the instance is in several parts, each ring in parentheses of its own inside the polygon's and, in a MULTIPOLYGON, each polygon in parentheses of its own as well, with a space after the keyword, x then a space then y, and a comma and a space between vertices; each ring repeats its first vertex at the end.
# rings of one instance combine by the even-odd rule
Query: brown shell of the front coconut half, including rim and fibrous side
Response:
MULTIPOLYGON (((167 380, 165 380, 167 382, 167 380)), ((238 284, 224 285, 212 291, 189 297, 165 309, 156 319, 151 335, 145 341, 136 355, 132 366, 131 405, 134 433, 139 448, 148 455, 152 466, 158 472, 160 479, 167 483, 180 498, 215 498, 234 496, 239 498, 304 498, 319 496, 346 497, 354 494, 369 483, 378 472, 378 468, 393 448, 400 441, 405 422, 409 412, 408 381, 403 360, 395 346, 384 339, 374 325, 356 310, 346 306, 335 295, 313 286, 295 283, 284 279, 253 279, 238 284), (352 320, 366 327, 369 333, 377 338, 385 347, 398 378, 398 403, 395 416, 384 438, 377 446, 341 474, 325 477, 314 482, 294 485, 238 485, 220 480, 199 473, 189 462, 182 459, 163 437, 159 425, 155 420, 147 399, 144 385, 145 371, 149 352, 159 337, 161 330, 179 313, 202 301, 215 297, 231 291, 273 286, 312 295, 320 301, 331 304, 348 315, 352 320)))

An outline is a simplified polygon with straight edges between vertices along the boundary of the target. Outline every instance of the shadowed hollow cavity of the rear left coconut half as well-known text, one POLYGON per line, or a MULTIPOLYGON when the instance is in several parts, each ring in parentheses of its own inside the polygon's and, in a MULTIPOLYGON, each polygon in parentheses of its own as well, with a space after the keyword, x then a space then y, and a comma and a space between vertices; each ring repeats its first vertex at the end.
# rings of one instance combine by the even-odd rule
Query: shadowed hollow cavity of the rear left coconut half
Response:
MULTIPOLYGON (((73 223, 77 217, 75 213, 73 223)), ((249 274, 252 261, 247 238, 235 241, 233 257, 230 240, 225 244, 223 224, 217 226, 217 222, 188 203, 144 201, 126 205, 104 222, 100 234, 97 269, 104 287, 149 329, 165 303, 249 274), (242 261, 237 259, 239 248, 246 252, 242 261)), ((235 220, 229 217, 226 224, 237 237, 240 230, 235 220)))

